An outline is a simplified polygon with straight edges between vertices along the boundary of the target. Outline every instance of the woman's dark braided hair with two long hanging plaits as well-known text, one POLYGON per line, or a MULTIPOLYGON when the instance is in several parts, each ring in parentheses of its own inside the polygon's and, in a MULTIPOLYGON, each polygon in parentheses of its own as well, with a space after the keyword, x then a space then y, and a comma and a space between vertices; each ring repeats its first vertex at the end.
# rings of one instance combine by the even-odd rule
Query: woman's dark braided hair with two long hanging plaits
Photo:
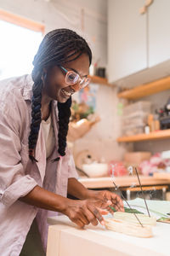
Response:
MULTIPOLYGON (((32 102, 31 102, 31 132, 29 135, 29 158, 37 161, 35 150, 37 137, 42 121, 41 101, 42 101, 42 75, 43 69, 76 60, 83 53, 92 61, 92 52, 84 38, 69 29, 56 29, 43 38, 39 46, 37 55, 34 57, 31 76, 33 79, 32 102)), ((65 102, 57 104, 59 110, 59 133, 58 152, 60 156, 65 155, 66 136, 71 117, 71 97, 65 102)), ((59 160, 57 158, 56 160, 59 160)))

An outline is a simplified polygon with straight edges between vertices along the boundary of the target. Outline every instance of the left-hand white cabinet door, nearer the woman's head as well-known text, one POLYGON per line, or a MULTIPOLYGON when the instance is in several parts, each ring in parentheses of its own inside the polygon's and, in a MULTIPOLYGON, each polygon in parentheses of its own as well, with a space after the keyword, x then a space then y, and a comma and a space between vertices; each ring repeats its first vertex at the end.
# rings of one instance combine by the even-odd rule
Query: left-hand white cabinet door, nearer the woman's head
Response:
MULTIPOLYGON (((159 0, 158 0, 159 1, 159 0)), ((108 1, 108 79, 114 82, 147 67, 144 0, 108 1)))

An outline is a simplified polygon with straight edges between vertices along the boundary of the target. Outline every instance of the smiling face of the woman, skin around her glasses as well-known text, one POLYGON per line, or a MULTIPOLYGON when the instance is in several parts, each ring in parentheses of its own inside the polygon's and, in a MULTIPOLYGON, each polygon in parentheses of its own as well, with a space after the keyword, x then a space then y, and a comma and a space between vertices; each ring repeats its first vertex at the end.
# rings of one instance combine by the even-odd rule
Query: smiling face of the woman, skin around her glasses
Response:
MULTIPOLYGON (((88 76, 89 69, 89 57, 87 54, 82 54, 77 60, 70 61, 65 64, 61 64, 65 69, 73 70, 77 72, 81 78, 88 76)), ((61 103, 66 102, 69 97, 80 90, 79 83, 77 84, 66 84, 65 83, 65 72, 57 67, 51 67, 48 69, 47 78, 44 81, 44 87, 42 90, 42 96, 48 97, 48 100, 55 100, 61 103)))

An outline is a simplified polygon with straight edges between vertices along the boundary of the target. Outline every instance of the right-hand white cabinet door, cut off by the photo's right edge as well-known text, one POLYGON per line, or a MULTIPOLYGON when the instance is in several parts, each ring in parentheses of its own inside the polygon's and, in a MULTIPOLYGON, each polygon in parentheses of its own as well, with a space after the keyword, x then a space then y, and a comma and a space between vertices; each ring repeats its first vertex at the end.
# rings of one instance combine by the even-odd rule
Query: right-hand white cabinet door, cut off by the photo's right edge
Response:
POLYGON ((170 0, 154 0, 149 11, 149 67, 170 59, 170 0))

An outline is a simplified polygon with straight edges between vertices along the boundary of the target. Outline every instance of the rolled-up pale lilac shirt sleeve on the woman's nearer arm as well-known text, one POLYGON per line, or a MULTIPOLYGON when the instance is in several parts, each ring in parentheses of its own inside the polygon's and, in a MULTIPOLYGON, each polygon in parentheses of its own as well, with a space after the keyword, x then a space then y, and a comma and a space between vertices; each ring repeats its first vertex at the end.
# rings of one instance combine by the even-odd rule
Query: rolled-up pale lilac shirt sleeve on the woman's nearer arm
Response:
MULTIPOLYGON (((22 107, 22 106, 21 106, 22 107)), ((25 174, 21 161, 20 112, 13 102, 0 104, 0 202, 11 206, 27 195, 37 182, 25 174)))

